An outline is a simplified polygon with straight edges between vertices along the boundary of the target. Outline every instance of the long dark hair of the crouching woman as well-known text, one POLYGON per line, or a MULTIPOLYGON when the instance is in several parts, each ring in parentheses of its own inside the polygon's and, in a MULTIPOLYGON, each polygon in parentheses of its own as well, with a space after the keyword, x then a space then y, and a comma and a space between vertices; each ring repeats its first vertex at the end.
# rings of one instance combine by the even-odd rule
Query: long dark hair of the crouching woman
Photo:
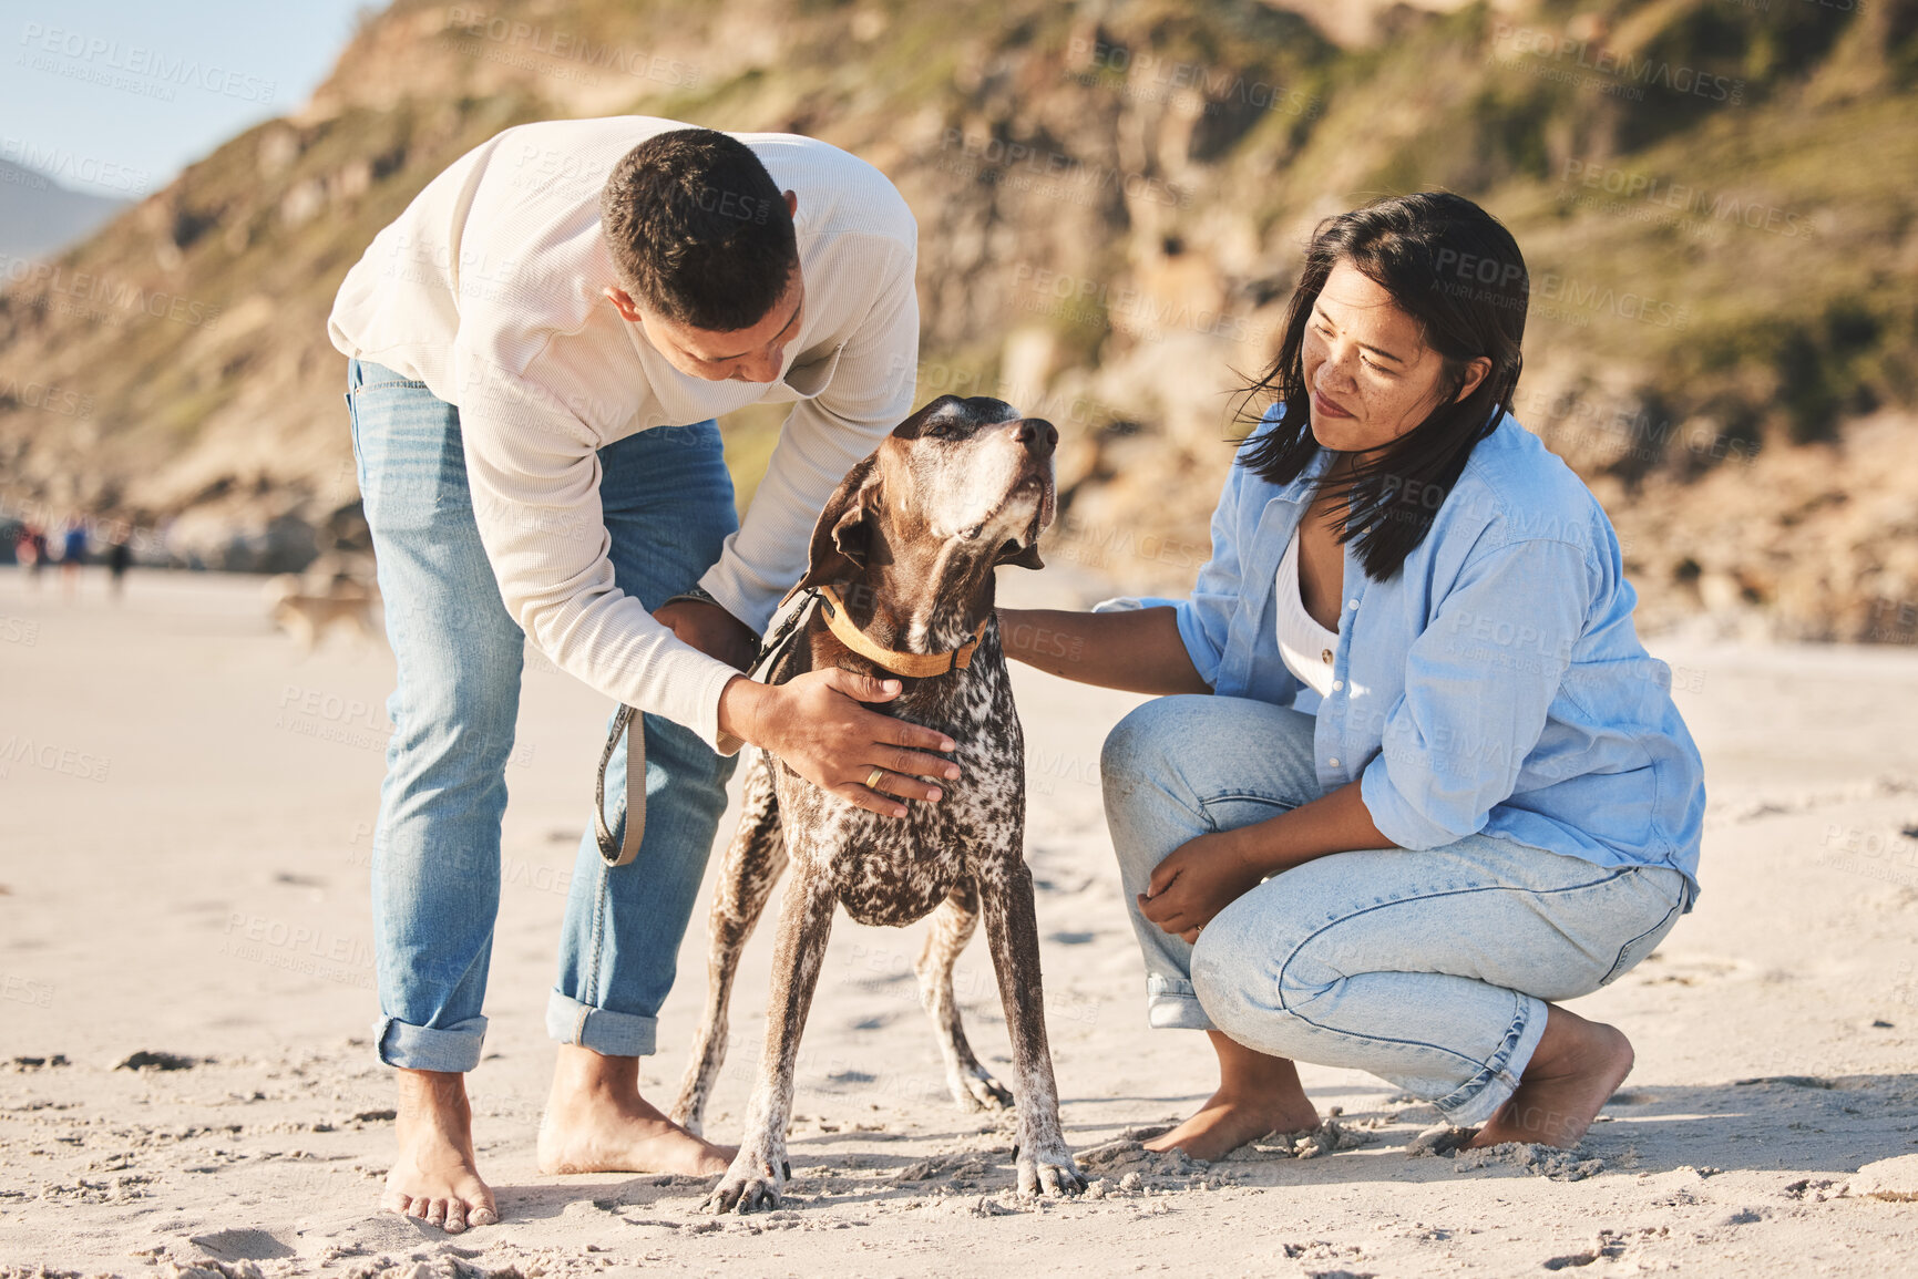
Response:
POLYGON ((1394 196, 1320 222, 1285 311, 1279 355, 1247 393, 1249 407, 1270 395, 1277 420, 1239 453, 1239 464, 1272 483, 1291 483, 1320 453, 1302 349, 1312 307, 1339 263, 1389 291, 1444 360, 1438 407, 1377 458, 1320 489, 1346 502, 1339 541, 1356 537, 1366 575, 1383 581, 1425 541, 1473 445, 1511 408, 1531 278, 1511 232, 1463 196, 1394 196), (1454 403, 1465 366, 1479 357, 1492 362, 1490 372, 1454 403))

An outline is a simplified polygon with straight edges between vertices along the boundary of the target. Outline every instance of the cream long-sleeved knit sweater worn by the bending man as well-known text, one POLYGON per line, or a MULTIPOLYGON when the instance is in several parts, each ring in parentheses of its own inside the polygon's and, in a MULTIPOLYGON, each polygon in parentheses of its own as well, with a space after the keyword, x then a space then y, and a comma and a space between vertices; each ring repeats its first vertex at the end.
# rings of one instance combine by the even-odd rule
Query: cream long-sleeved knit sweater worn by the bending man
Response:
POLYGON ((911 412, 917 228, 865 161, 813 138, 737 134, 798 194, 806 314, 783 380, 689 378, 600 291, 618 284, 600 188, 621 155, 667 128, 683 125, 552 121, 476 148, 374 238, 328 332, 341 353, 458 405, 480 539, 541 652, 719 746, 719 690, 735 671, 654 621, 660 600, 614 585, 595 453, 654 426, 792 403, 744 525, 700 579, 763 631, 806 570, 832 487, 911 412))

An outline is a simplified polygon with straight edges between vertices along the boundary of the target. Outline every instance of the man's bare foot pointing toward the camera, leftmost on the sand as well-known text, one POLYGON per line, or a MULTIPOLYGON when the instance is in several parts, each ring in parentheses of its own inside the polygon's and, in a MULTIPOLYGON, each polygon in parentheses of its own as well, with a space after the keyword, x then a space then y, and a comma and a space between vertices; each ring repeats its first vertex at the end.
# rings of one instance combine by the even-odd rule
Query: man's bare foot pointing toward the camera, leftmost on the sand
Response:
POLYGON ((458 1235, 493 1225, 499 1208, 474 1158, 474 1116, 466 1076, 439 1070, 399 1072, 399 1158, 386 1174, 380 1208, 418 1218, 458 1235))

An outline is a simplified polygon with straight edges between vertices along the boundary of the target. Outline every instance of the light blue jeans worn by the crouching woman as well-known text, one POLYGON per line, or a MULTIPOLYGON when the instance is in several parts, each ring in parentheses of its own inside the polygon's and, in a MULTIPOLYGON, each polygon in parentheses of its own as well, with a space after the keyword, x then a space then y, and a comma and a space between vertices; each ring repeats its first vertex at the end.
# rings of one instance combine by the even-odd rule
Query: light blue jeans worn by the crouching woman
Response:
POLYGON ((1369 1070, 1460 1128, 1511 1097, 1546 1001, 1613 982, 1686 901, 1671 867, 1600 867, 1475 834, 1308 861, 1187 945, 1134 894, 1181 844, 1320 798, 1312 717, 1247 698, 1158 698, 1112 729, 1103 777, 1153 1026, 1369 1070))

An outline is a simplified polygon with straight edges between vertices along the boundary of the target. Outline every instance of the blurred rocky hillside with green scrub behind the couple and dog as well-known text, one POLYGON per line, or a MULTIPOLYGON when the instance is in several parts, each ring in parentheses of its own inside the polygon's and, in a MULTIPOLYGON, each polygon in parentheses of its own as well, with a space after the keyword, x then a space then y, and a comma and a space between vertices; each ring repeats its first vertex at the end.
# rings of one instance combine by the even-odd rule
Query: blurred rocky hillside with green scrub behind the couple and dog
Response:
MULTIPOLYGON (((1648 625, 1918 629, 1918 0, 399 0, 297 115, 10 263, 0 516, 226 568, 351 545, 341 274, 499 128, 620 111, 892 174, 921 389, 1059 422, 1055 558, 1187 583, 1304 236, 1446 186, 1527 251, 1521 416, 1648 625)), ((727 426, 750 491, 777 422, 727 426)))

